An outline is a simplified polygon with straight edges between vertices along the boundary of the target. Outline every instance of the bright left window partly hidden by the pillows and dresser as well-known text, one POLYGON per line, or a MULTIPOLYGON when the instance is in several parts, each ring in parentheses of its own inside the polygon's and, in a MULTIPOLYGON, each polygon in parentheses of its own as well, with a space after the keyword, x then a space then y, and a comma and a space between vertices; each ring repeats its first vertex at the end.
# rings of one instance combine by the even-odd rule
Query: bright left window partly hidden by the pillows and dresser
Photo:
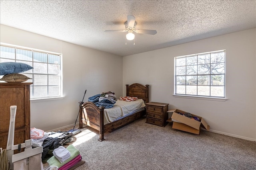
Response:
POLYGON ((0 63, 3 62, 26 63, 34 67, 21 73, 32 78, 26 81, 33 82, 30 85, 31 99, 62 96, 62 54, 1 43, 0 63))

